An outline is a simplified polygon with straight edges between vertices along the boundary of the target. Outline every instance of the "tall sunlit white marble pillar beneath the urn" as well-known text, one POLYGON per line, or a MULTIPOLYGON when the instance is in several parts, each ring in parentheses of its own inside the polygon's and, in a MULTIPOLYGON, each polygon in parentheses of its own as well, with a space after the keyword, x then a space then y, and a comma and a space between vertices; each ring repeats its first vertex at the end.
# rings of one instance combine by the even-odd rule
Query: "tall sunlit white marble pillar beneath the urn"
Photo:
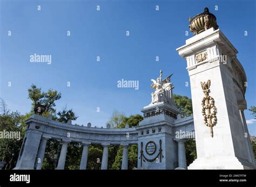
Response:
POLYGON ((245 136, 248 130, 239 113, 238 104, 246 103, 246 75, 237 50, 220 30, 210 28, 186 40, 177 51, 187 61, 196 132, 198 159, 188 169, 253 169, 252 147, 245 136), (201 82, 208 80, 208 95, 217 108, 213 135, 205 125, 201 105, 205 97, 201 82))

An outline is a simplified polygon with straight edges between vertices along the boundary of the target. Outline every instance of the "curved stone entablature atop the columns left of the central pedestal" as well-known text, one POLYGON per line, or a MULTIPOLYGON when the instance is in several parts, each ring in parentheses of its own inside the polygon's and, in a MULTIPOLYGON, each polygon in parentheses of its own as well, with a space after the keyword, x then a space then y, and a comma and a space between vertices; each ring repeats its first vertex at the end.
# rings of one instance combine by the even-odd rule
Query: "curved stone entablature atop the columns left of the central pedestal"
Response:
POLYGON ((132 145, 137 144, 138 132, 133 128, 98 128, 71 123, 60 123, 43 116, 33 115, 25 121, 27 132, 38 131, 42 137, 63 139, 91 144, 132 145))

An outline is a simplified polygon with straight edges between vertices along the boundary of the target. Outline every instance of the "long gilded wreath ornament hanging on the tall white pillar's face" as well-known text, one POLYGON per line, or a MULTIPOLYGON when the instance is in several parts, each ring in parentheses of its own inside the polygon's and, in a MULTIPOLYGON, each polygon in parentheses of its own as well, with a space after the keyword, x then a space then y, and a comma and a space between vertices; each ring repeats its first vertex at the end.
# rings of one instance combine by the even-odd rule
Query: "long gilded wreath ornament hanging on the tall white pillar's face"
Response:
POLYGON ((210 93, 211 80, 208 80, 207 83, 201 82, 201 87, 205 94, 205 97, 202 99, 202 114, 204 116, 205 125, 210 127, 211 136, 213 137, 213 126, 217 123, 217 108, 215 107, 214 99, 209 96, 210 93))

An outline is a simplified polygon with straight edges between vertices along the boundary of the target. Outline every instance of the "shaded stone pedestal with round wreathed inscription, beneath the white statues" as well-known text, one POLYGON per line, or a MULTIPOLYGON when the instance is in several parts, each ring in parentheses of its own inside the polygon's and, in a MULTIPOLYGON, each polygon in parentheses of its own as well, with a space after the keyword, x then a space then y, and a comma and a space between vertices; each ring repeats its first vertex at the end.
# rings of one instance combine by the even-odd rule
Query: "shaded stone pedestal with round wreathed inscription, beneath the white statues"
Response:
POLYGON ((138 130, 138 169, 175 169, 178 147, 174 141, 175 105, 165 102, 144 107, 138 130))

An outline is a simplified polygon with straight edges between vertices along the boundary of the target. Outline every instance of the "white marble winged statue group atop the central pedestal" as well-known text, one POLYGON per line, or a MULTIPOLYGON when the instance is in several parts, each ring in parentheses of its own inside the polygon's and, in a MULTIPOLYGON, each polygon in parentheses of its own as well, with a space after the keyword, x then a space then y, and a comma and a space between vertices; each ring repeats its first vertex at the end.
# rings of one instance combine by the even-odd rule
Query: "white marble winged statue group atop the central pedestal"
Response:
POLYGON ((162 81, 162 73, 163 71, 160 70, 160 77, 157 78, 157 81, 151 79, 153 82, 151 84, 151 88, 155 89, 154 93, 151 93, 152 96, 152 101, 151 104, 154 103, 160 103, 160 102, 167 102, 169 103, 169 100, 171 99, 171 94, 170 90, 173 89, 173 84, 171 83, 170 77, 173 75, 171 74, 170 76, 166 77, 162 81))

